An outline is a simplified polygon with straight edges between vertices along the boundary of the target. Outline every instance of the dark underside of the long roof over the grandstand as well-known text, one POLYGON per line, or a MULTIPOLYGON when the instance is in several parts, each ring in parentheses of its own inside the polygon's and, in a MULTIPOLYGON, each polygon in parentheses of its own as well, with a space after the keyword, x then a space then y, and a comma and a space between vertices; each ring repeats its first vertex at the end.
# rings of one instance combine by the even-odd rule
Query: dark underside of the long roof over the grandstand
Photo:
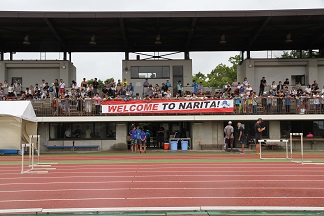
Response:
POLYGON ((0 11, 3 52, 258 51, 323 47, 324 9, 0 11), (23 44, 26 35, 27 42, 23 44), (95 45, 90 44, 91 36, 95 45), (226 43, 220 43, 221 39, 226 43))

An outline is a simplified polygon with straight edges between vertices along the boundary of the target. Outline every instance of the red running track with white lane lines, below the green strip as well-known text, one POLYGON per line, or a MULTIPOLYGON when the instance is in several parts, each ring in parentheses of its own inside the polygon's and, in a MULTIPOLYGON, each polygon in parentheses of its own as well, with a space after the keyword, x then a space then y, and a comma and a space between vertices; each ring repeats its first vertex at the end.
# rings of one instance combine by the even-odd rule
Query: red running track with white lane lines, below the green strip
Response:
POLYGON ((322 207, 324 169, 294 163, 1 166, 0 209, 191 206, 322 207))

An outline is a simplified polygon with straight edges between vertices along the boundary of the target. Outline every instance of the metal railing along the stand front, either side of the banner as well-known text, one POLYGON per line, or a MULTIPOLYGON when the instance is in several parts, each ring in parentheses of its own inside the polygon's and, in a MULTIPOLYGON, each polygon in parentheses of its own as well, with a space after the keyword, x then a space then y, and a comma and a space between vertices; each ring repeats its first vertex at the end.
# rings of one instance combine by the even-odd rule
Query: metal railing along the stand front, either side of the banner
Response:
MULTIPOLYGON (((236 115, 263 115, 263 114, 324 114, 324 99, 322 98, 234 98, 234 111, 236 115)), ((36 116, 100 116, 100 115, 129 115, 102 113, 101 105, 95 105, 93 99, 88 100, 65 100, 50 99, 31 100, 36 116)), ((197 112, 196 114, 202 114, 197 112)), ((205 113, 205 115, 224 115, 225 113, 205 113)), ((226 113, 228 114, 228 113, 226 113)), ((132 114, 134 115, 134 114, 132 114)), ((154 115, 154 114, 136 114, 154 115)), ((175 115, 175 114, 164 114, 175 115)), ((195 114, 176 114, 195 115, 195 114)), ((202 114, 204 115, 204 114, 202 114)))

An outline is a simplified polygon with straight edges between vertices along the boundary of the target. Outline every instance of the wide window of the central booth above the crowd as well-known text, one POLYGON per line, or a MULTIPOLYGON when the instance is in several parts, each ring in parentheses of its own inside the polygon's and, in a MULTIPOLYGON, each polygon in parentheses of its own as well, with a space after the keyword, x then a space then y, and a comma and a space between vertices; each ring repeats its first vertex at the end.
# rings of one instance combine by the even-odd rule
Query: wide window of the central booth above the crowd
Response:
POLYGON ((169 66, 132 66, 132 79, 161 79, 170 78, 169 66))

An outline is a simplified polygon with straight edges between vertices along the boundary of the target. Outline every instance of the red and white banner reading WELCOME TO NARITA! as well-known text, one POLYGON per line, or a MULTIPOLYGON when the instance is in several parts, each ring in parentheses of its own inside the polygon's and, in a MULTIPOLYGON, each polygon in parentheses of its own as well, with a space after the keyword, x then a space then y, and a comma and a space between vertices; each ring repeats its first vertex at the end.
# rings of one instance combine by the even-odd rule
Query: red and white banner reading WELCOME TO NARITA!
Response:
POLYGON ((233 100, 102 101, 102 113, 233 113, 233 100))

